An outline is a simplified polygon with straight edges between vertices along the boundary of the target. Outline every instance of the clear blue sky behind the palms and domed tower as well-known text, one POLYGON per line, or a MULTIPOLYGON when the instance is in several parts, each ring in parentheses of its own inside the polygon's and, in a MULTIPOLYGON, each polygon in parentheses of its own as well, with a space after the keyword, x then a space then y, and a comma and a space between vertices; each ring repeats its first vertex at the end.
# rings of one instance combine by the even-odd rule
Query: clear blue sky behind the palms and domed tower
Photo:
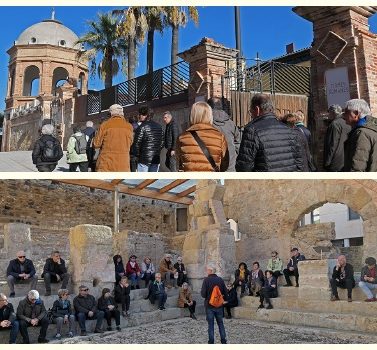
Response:
MULTIPOLYGON (((55 18, 72 29, 77 35, 86 31, 86 21, 95 19, 98 12, 111 11, 113 7, 56 7, 55 18)), ((180 31, 180 51, 196 45, 204 36, 227 46, 235 47, 234 8, 198 7, 199 26, 192 23, 180 31)), ((0 110, 4 108, 6 94, 8 54, 6 51, 13 45, 24 29, 43 19, 51 18, 51 7, 24 6, 0 7, 2 33, 0 35, 0 110)), ((375 16, 377 17, 377 16, 375 16)), ((377 32, 377 18, 370 19, 371 31, 377 32)), ((253 6, 241 7, 242 48, 246 58, 255 58, 256 53, 262 59, 269 59, 285 53, 285 45, 293 42, 296 49, 310 46, 312 42, 312 24, 292 12, 292 7, 253 6)), ((170 64, 171 33, 163 36, 155 34, 155 69, 170 64)), ((137 75, 145 73, 146 50, 140 48, 137 75)), ((125 80, 119 74, 115 83, 125 80)), ((98 78, 90 79, 90 89, 102 89, 103 82, 98 78)))

